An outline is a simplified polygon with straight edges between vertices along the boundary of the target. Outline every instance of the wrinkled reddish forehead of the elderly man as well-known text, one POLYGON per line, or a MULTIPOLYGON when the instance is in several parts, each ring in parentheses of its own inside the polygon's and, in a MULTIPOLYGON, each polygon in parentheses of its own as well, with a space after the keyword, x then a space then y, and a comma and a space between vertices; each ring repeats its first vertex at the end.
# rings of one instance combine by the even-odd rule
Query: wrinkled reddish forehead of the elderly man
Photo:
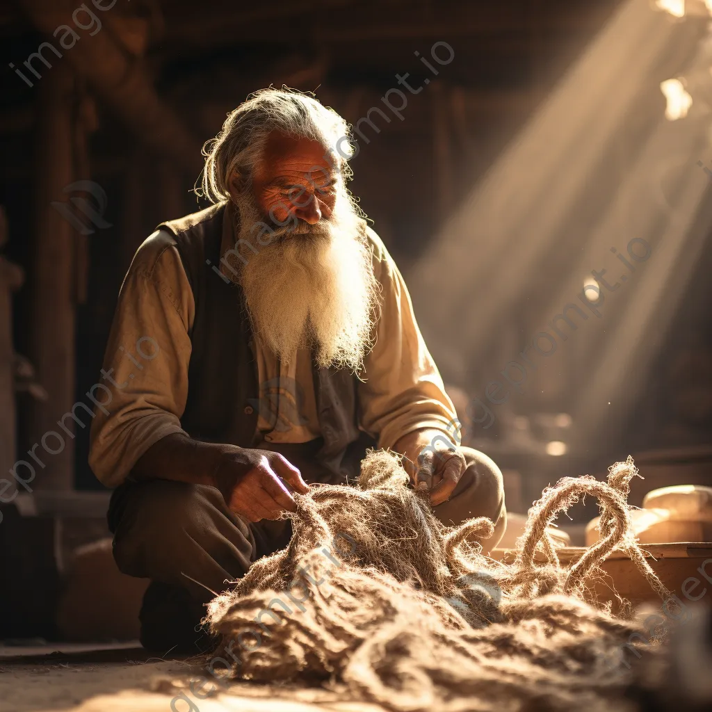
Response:
POLYGON ((256 179, 269 184, 280 178, 312 179, 317 182, 334 176, 328 149, 322 142, 272 132, 258 162, 256 179))

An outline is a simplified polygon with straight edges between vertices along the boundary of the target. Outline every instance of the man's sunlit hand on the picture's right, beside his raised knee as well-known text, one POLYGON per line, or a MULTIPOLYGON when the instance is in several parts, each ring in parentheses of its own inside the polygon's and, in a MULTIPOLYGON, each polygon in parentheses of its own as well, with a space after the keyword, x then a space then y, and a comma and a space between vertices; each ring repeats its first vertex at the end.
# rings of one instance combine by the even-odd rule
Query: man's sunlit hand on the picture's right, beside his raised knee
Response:
POLYGON ((465 456, 450 436, 434 429, 404 435, 394 450, 405 455, 403 466, 417 489, 430 492, 430 503, 447 501, 460 481, 465 456))

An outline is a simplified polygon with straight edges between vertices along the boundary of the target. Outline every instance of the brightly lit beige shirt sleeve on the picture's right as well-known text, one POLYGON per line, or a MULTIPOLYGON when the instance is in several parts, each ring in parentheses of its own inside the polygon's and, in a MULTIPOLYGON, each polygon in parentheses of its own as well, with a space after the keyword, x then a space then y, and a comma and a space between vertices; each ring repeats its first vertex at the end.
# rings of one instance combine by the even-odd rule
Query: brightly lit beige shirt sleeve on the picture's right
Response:
POLYGON ((452 432, 455 409, 418 328, 408 289, 379 237, 371 229, 368 235, 382 294, 375 345, 359 384, 362 429, 382 448, 422 428, 452 432))

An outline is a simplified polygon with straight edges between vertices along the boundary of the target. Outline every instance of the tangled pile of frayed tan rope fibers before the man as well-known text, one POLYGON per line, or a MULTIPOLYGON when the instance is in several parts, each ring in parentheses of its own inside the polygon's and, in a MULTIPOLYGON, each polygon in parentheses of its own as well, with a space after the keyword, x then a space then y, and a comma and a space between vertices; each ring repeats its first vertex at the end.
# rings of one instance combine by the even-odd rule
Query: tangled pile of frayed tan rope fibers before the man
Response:
MULTIPOLYGON (((224 640, 247 641, 235 649, 234 678, 325 684, 342 699, 398 712, 609 712, 627 679, 605 658, 642 627, 585 602, 597 565, 625 550, 669 595, 632 535, 627 496, 636 475, 629 457, 609 468, 607 483, 563 478, 545 489, 515 562, 505 565, 472 541, 493 533, 490 520, 444 527, 427 493, 407 486, 399 459, 370 452, 357 486, 295 496, 288 548, 254 562, 234 590, 211 601, 206 621, 224 640), (586 495, 599 501, 602 537, 566 569, 546 527, 586 495), (334 565, 320 550, 338 535, 356 545, 334 565), (274 600, 295 579, 309 599, 286 613, 274 600), (281 622, 262 630, 257 645, 256 616, 270 604, 281 622)), ((337 539, 343 548, 345 540, 337 539)))

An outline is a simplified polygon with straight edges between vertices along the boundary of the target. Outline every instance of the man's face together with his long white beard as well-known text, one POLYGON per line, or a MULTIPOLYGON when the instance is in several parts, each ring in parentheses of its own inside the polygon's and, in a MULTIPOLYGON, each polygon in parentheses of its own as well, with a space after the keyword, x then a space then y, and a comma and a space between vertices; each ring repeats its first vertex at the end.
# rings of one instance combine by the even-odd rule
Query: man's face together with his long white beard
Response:
POLYGON ((320 367, 357 372, 379 286, 365 221, 329 159, 318 141, 274 133, 251 189, 231 185, 239 281, 253 330, 283 362, 310 347, 320 367))

